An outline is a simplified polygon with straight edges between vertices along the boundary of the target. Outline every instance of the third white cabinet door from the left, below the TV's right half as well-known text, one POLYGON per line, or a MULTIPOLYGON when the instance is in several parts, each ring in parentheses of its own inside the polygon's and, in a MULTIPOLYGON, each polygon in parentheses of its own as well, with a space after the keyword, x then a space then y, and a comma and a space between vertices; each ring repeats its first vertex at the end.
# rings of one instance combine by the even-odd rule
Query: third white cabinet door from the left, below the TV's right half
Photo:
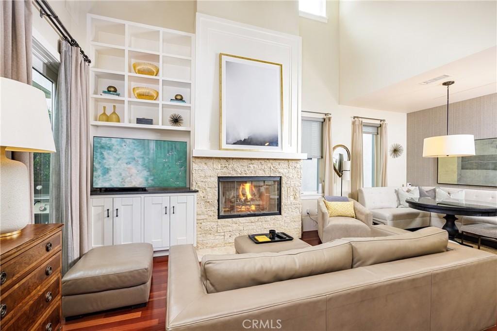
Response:
POLYGON ((168 196, 146 196, 144 209, 144 238, 154 248, 169 248, 169 207, 168 196))

